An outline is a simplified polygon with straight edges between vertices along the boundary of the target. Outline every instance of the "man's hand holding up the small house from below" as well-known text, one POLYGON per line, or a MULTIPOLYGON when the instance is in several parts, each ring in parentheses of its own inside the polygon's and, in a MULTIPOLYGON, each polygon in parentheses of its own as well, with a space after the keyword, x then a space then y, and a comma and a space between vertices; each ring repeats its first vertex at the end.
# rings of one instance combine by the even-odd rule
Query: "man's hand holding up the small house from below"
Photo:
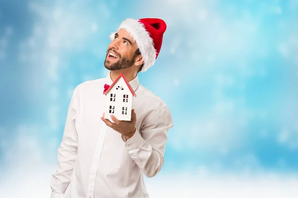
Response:
POLYGON ((108 119, 104 119, 104 113, 103 116, 101 117, 102 121, 104 123, 114 129, 115 131, 121 133, 126 140, 130 139, 131 137, 134 136, 136 132, 136 122, 137 122, 137 115, 135 113, 135 109, 132 109, 132 119, 131 121, 126 121, 126 120, 118 120, 115 116, 111 115, 112 120, 115 123, 112 123, 108 119))

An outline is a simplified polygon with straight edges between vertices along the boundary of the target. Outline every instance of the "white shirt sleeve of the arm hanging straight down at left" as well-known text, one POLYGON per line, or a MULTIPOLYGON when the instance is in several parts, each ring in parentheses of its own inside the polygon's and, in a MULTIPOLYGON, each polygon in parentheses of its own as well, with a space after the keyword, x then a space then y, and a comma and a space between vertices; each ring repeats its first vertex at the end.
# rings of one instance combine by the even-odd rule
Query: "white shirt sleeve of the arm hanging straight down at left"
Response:
POLYGON ((58 148, 57 172, 51 178, 51 198, 64 198, 64 193, 73 174, 77 155, 77 133, 74 125, 77 113, 76 92, 77 87, 69 105, 62 142, 58 148))

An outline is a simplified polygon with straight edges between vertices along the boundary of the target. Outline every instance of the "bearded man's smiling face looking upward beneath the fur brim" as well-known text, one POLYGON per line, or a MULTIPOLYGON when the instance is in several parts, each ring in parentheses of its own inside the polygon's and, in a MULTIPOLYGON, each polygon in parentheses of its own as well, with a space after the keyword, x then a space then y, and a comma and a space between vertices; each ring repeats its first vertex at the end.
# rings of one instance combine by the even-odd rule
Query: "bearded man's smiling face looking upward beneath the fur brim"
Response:
POLYGON ((137 44, 131 35, 121 29, 114 40, 109 44, 104 66, 108 70, 119 70, 129 68, 134 64, 134 53, 137 44))

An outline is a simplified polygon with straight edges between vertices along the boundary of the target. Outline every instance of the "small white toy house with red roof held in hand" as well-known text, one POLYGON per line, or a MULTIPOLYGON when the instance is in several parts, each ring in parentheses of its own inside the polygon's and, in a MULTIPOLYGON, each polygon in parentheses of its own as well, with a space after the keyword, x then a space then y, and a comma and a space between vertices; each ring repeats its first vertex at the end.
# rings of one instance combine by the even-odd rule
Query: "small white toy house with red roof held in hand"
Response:
POLYGON ((123 73, 104 91, 104 94, 106 95, 104 118, 113 122, 111 115, 114 115, 118 120, 131 121, 133 101, 137 95, 123 73))

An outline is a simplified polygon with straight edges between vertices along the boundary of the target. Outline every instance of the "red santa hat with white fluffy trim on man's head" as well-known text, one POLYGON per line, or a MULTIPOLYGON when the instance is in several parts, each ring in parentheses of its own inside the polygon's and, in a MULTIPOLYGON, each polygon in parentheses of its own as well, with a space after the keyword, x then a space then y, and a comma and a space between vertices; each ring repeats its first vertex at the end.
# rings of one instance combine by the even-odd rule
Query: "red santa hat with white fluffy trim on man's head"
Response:
MULTIPOLYGON (((125 29, 136 41, 144 59, 141 72, 147 71, 159 54, 163 33, 166 30, 165 22, 158 18, 128 18, 122 21, 117 32, 120 29, 125 29)), ((114 39, 117 32, 110 35, 110 40, 114 39)))

